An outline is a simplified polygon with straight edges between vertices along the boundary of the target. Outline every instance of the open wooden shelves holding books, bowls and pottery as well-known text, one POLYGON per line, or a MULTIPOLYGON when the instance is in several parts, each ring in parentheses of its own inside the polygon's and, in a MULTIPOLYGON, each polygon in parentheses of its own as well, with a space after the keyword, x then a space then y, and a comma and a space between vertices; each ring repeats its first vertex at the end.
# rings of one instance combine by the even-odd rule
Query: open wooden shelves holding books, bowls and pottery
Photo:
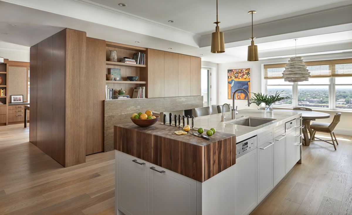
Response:
MULTIPOLYGON (((126 95, 130 95, 132 98, 133 96, 133 89, 136 87, 146 87, 147 80, 143 80, 145 75, 140 75, 142 72, 146 72, 145 68, 147 65, 141 64, 129 64, 129 63, 121 63, 121 62, 112 62, 109 61, 109 50, 116 50, 117 51, 117 59, 118 61, 120 58, 123 57, 133 57, 133 53, 142 52, 146 53, 147 49, 132 45, 125 45, 120 43, 113 43, 113 42, 106 42, 106 71, 105 74, 109 74, 110 68, 117 68, 121 70, 121 81, 106 81, 106 85, 112 89, 123 89, 126 90, 126 95), (128 81, 127 76, 138 76, 138 81, 128 81)), ((145 62, 147 64, 148 56, 145 57, 145 62)))

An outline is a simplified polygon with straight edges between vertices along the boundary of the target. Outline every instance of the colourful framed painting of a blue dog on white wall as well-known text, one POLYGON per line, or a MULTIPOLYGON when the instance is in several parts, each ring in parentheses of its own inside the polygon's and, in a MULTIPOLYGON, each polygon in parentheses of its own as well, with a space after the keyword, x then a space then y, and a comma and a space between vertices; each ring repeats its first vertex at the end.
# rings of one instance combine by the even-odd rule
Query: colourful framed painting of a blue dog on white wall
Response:
MULTIPOLYGON (((251 69, 229 69, 227 70, 227 99, 232 99, 232 94, 239 88, 247 90, 251 97, 251 69)), ((237 91, 235 99, 247 100, 243 90, 237 91)))

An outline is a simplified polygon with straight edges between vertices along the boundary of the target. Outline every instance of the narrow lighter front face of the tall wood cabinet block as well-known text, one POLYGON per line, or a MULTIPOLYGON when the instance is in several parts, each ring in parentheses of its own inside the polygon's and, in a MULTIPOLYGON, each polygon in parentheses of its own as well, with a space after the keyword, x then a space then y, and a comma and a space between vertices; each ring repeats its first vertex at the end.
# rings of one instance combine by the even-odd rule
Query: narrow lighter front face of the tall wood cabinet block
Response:
POLYGON ((66 29, 65 167, 86 162, 86 38, 66 29))

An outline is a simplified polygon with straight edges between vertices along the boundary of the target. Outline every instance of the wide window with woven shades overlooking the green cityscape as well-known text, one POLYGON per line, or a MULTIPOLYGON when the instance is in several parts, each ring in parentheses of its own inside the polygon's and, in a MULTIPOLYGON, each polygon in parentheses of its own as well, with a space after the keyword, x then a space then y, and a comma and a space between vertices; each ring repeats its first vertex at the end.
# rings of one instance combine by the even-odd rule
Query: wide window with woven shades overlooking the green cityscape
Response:
POLYGON ((285 65, 264 65, 266 93, 282 91, 282 96, 293 98, 274 106, 352 110, 352 58, 306 62, 312 77, 296 83, 281 78, 285 65))

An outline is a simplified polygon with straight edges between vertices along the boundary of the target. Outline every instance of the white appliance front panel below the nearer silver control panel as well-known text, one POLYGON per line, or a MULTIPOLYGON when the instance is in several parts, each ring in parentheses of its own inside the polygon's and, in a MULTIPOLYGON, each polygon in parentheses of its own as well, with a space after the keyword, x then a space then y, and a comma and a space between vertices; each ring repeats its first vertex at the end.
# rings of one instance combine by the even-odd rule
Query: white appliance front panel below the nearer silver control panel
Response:
POLYGON ((257 206, 257 150, 236 159, 235 213, 247 215, 257 206))

